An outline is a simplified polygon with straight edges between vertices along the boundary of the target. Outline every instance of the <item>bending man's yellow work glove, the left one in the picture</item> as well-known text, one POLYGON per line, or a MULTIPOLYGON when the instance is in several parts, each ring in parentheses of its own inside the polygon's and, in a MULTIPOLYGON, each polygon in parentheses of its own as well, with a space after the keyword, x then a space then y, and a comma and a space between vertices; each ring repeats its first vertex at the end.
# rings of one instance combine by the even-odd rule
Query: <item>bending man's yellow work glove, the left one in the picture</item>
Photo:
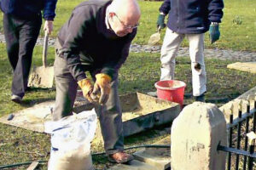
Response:
POLYGON ((82 89, 84 98, 88 99, 90 102, 93 100, 90 97, 90 94, 92 93, 93 86, 88 78, 84 78, 78 82, 79 87, 82 89))

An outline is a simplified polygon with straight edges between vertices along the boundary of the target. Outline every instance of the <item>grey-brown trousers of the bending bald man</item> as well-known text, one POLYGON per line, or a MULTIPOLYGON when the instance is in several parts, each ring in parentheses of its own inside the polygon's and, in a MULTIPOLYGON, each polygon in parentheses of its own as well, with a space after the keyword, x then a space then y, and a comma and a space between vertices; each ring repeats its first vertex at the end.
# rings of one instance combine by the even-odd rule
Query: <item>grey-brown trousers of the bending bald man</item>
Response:
MULTIPOLYGON (((67 68, 67 61, 59 56, 55 57, 55 85, 56 99, 53 120, 58 121, 64 116, 72 115, 78 83, 67 68)), ((96 70, 86 68, 95 79, 96 70)), ((118 74, 118 73, 117 73, 118 74)), ((117 77, 117 75, 115 76, 117 77)), ((122 111, 118 94, 118 78, 111 83, 111 91, 106 105, 96 108, 99 116, 104 147, 107 155, 124 150, 122 111)))

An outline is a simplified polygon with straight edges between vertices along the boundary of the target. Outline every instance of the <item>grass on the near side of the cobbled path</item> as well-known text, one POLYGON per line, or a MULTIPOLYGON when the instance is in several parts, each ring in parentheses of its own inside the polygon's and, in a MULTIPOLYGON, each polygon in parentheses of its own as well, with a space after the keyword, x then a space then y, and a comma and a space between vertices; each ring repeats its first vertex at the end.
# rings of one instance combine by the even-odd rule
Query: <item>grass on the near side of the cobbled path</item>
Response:
MULTIPOLYGON (((33 54, 33 64, 41 65, 42 47, 36 47, 33 54)), ((119 93, 143 92, 154 90, 154 82, 160 77, 160 54, 134 54, 125 62, 119 72, 119 93)), ((49 48, 49 63, 54 61, 54 49, 49 48)), ((218 59, 206 59, 207 65, 207 100, 216 100, 217 105, 223 105, 230 99, 253 88, 256 84, 256 77, 253 74, 226 69, 226 65, 233 61, 218 59), (232 83, 231 83, 232 82, 232 83), (222 103, 223 102, 223 103, 222 103)), ((191 93, 191 73, 189 57, 177 58, 176 77, 187 83, 186 93, 191 93)), ((19 111, 35 105, 47 99, 55 99, 55 90, 34 89, 28 92, 24 98, 24 105, 17 105, 10 102, 10 85, 12 71, 6 57, 4 44, 0 44, 0 116, 19 111)), ((193 101, 191 98, 184 100, 185 104, 193 101)), ((152 144, 166 135, 155 133, 155 130, 148 133, 141 133, 125 139, 125 146, 136 144, 152 144)), ((18 127, 10 127, 0 123, 0 165, 12 164, 31 160, 49 159, 49 135, 44 133, 33 133, 18 127)), ((102 146, 92 146, 92 150, 102 151, 102 146)), ((97 169, 102 169, 108 164, 105 156, 93 156, 97 169)), ((41 166, 40 169, 46 169, 41 166)), ((18 169, 25 169, 19 167, 18 169)))

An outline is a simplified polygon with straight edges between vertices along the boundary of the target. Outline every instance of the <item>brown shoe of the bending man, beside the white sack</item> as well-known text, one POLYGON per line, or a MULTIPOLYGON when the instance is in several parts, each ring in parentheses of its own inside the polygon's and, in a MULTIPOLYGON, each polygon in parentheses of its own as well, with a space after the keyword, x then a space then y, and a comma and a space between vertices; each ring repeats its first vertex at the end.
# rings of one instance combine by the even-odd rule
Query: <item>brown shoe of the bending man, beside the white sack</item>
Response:
POLYGON ((117 152, 108 156, 108 161, 115 162, 115 163, 125 163, 133 159, 134 159, 133 156, 125 152, 117 152))

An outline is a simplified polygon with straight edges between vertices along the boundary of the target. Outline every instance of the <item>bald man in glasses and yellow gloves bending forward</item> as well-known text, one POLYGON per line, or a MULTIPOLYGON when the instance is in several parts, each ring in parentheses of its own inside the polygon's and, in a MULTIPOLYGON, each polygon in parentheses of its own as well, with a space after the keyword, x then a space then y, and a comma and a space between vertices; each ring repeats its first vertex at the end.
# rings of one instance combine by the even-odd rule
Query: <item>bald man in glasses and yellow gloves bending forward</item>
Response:
POLYGON ((125 153, 118 73, 137 34, 141 12, 136 0, 89 0, 73 9, 57 37, 54 121, 72 115, 80 87, 96 109, 110 161, 130 161, 125 153), (86 77, 88 71, 94 86, 86 77))

